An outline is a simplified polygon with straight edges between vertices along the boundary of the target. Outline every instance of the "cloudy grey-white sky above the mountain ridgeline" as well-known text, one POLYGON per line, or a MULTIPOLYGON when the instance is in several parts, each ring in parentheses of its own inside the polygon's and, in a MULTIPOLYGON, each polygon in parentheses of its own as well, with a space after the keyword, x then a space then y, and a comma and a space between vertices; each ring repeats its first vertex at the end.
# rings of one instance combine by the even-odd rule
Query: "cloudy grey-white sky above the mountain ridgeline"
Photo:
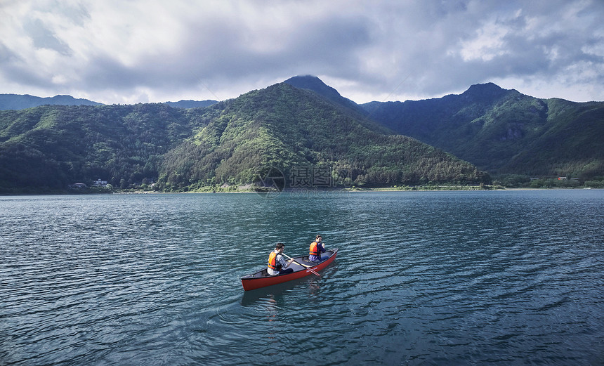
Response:
POLYGON ((225 100, 313 74, 357 103, 492 81, 604 100, 603 0, 0 0, 0 93, 225 100))

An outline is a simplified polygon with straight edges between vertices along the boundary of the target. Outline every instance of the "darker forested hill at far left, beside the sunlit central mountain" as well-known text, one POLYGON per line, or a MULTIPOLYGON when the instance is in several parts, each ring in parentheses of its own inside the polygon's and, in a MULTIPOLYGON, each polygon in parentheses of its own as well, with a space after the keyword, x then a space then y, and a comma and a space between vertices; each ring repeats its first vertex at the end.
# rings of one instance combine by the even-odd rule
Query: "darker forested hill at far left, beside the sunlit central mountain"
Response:
POLYGON ((188 138, 196 110, 161 104, 51 106, 0 112, 0 191, 116 187, 155 181, 163 156, 188 138))

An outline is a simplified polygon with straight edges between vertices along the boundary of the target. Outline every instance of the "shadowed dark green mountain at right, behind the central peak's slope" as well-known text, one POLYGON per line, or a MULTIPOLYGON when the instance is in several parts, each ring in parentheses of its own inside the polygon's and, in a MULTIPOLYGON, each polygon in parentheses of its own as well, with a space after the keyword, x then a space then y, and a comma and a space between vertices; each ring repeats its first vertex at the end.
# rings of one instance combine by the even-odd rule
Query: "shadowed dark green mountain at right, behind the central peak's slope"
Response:
POLYGON ((604 103, 478 84, 461 95, 366 103, 369 116, 492 174, 604 176, 604 103))

